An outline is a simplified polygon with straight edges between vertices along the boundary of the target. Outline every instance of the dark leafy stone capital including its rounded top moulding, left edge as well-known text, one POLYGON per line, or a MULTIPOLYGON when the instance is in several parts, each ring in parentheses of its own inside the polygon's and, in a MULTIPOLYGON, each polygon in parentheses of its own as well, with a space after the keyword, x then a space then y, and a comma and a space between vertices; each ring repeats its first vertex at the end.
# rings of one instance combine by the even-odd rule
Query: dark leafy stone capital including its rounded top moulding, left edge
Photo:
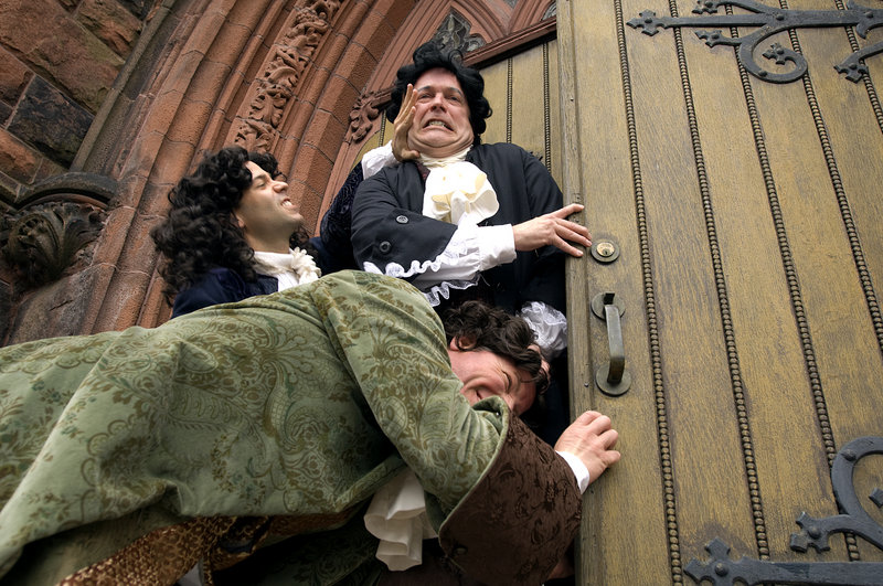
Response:
POLYGON ((41 183, 0 222, 0 249, 31 287, 58 279, 87 255, 104 225, 116 182, 91 173, 66 173, 41 183))

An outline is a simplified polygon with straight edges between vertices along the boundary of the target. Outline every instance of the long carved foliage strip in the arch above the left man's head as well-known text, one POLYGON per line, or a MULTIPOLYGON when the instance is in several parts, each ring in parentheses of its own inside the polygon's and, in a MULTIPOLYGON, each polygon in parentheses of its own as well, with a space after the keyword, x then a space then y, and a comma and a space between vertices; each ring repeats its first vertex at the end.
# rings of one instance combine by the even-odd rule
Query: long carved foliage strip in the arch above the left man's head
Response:
POLYGON ((255 81, 252 102, 236 131, 237 145, 269 150, 285 107, 339 8, 340 0, 300 0, 291 11, 285 33, 276 40, 255 81))

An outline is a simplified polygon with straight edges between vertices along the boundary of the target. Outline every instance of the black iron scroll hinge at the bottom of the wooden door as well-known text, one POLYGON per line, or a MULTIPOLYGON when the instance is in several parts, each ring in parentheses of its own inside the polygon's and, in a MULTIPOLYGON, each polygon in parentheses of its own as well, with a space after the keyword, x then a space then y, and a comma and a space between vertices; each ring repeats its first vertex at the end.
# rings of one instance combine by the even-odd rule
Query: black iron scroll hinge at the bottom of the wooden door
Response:
MULTIPOLYGON (((801 513, 797 524, 801 530, 791 535, 791 550, 806 553, 830 548, 828 537, 834 533, 852 533, 883 550, 883 526, 862 508, 852 473, 855 462, 871 454, 883 454, 883 437, 860 437, 841 449, 831 466, 831 484, 841 514, 816 519, 801 513)), ((883 490, 875 488, 871 502, 883 508, 883 490)), ((705 546, 708 562, 691 560, 684 571, 696 583, 709 580, 715 586, 737 582, 748 585, 776 584, 840 584, 850 586, 883 584, 883 563, 879 562, 769 562, 766 560, 730 560, 730 546, 715 537, 705 546)))

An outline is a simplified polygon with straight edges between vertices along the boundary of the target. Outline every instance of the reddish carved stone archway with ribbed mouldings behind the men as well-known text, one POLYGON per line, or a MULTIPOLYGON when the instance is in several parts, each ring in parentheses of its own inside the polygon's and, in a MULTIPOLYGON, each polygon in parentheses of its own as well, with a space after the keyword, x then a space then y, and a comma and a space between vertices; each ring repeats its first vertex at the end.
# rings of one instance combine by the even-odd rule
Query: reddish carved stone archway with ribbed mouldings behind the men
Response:
MULTIPOLYGON (((204 150, 266 148, 318 226, 376 131, 395 70, 451 19, 477 52, 535 26, 550 0, 162 0, 70 169, 105 178, 103 226, 61 277, 0 291, 4 344, 168 319, 150 228, 204 150), (360 136, 361 134, 361 136, 360 136), (341 174, 342 173, 342 174, 341 174)), ((546 22, 545 26, 549 26, 546 22)), ((554 28, 554 23, 552 22, 554 28)), ((55 194, 58 205, 77 195, 55 194)), ((82 196, 82 194, 77 195, 82 196)), ((68 207, 68 211, 71 207, 68 207)), ((2 324, 0 324, 2 326, 2 324)))

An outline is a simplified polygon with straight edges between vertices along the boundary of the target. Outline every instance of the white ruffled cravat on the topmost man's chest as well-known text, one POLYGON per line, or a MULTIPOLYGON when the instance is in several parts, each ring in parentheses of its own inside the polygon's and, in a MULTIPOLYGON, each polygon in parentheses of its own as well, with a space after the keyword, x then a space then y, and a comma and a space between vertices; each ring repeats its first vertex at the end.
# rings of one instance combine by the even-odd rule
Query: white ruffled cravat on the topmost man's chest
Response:
POLYGON ((429 169, 423 195, 423 215, 460 225, 478 224, 497 213, 497 192, 478 167, 466 160, 467 147, 453 157, 421 157, 429 169))

